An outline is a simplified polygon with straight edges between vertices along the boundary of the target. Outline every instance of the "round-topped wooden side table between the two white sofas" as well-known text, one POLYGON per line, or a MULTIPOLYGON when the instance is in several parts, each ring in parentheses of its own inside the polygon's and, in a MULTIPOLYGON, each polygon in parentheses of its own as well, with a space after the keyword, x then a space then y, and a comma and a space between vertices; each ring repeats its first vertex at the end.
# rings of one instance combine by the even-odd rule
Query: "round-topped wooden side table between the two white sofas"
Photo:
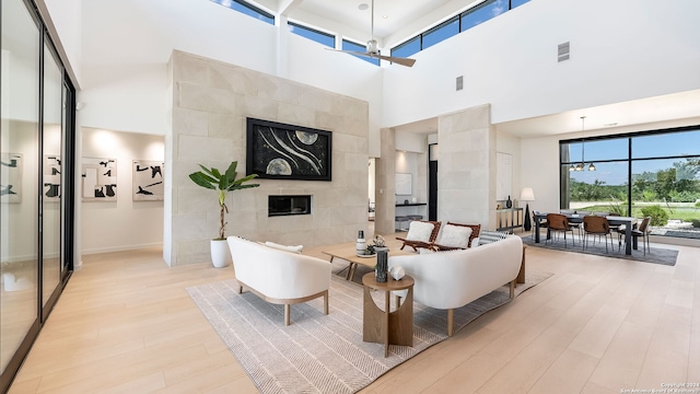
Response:
POLYGON ((386 282, 377 282, 374 273, 362 277, 364 306, 362 340, 384 344, 384 357, 389 355, 389 345, 413 346, 413 278, 406 275, 400 280, 388 277, 386 282), (370 290, 384 291, 384 311, 378 309, 370 290), (396 310, 389 309, 392 291, 408 290, 404 303, 396 298, 396 310))

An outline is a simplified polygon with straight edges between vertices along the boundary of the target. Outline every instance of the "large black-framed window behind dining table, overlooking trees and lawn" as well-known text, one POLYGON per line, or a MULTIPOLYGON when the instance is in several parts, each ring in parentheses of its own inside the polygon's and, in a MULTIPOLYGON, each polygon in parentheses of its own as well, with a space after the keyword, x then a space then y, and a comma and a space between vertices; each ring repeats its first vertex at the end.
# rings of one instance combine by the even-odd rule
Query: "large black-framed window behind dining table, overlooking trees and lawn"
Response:
POLYGON ((560 158, 561 208, 651 217, 655 235, 700 239, 700 126, 560 141, 560 158))

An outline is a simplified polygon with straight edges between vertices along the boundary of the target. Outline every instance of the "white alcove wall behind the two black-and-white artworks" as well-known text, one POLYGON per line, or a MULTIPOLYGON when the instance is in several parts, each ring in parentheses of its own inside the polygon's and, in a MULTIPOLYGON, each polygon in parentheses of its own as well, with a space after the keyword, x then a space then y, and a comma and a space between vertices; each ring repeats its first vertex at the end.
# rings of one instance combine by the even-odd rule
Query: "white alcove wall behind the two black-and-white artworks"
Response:
MULTIPOLYGON (((82 155, 116 159, 118 185, 115 202, 79 202, 79 207, 82 207, 80 233, 83 254, 162 244, 163 201, 132 201, 131 187, 133 160, 162 161, 164 152, 164 139, 161 136, 82 129, 82 155)), ((81 196, 81 177, 78 179, 78 196, 81 196)))

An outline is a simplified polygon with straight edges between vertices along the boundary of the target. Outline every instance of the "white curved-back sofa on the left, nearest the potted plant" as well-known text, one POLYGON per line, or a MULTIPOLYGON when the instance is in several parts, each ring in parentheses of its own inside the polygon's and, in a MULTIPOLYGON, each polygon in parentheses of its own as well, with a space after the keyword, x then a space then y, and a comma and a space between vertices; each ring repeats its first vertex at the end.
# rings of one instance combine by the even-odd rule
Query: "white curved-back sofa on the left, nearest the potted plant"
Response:
POLYGON ((328 314, 330 263, 300 253, 281 251, 238 236, 229 236, 238 293, 250 290, 267 302, 284 305, 289 325, 290 305, 324 298, 328 314))

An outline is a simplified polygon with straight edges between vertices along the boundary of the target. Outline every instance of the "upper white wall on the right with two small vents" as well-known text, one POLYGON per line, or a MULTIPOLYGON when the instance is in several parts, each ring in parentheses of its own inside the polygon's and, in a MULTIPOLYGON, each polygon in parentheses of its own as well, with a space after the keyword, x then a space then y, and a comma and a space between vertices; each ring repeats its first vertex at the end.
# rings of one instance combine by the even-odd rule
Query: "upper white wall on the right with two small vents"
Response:
POLYGON ((700 88, 700 2, 536 0, 384 76, 385 127, 490 103, 494 124, 700 88), (557 45, 571 42, 571 60, 557 45), (455 78, 464 76, 464 90, 455 78))

